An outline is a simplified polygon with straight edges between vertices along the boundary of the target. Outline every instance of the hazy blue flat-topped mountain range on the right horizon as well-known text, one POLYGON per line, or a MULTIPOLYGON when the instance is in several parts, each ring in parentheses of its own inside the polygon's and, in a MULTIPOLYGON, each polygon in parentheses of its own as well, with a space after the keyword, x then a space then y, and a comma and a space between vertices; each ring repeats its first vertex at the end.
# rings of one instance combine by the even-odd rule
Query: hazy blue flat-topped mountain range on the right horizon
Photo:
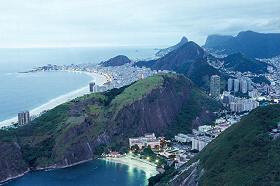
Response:
POLYGON ((241 52, 251 58, 280 55, 280 33, 240 32, 237 36, 210 35, 204 47, 219 54, 241 52))

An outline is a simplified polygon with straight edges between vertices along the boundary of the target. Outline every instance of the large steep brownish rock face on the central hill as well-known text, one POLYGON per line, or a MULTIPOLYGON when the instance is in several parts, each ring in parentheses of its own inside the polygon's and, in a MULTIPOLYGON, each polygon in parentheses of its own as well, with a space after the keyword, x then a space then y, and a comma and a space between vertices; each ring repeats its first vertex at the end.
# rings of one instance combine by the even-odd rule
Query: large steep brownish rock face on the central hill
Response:
POLYGON ((114 131, 125 137, 128 137, 128 134, 139 136, 149 132, 166 134, 169 124, 187 102, 193 86, 183 78, 181 81, 183 85, 176 88, 174 80, 166 80, 163 87, 125 107, 116 116, 115 122, 118 127, 114 131))

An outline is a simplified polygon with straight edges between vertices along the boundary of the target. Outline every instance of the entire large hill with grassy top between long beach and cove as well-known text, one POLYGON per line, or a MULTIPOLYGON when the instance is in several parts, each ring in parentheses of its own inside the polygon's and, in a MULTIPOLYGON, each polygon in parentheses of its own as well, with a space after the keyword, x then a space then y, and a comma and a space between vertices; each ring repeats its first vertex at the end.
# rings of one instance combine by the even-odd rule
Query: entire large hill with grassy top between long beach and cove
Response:
POLYGON ((128 138, 144 133, 189 132, 213 122, 219 108, 189 79, 175 74, 76 98, 28 125, 0 130, 0 182, 30 169, 71 166, 109 150, 126 152, 128 138))

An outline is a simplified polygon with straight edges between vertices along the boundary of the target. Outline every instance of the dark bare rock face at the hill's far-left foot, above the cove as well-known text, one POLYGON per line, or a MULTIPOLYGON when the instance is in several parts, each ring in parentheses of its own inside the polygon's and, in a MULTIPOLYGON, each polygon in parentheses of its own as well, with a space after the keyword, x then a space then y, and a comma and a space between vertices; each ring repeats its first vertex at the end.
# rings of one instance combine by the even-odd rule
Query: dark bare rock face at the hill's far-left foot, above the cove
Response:
POLYGON ((0 142, 0 183, 29 171, 20 146, 14 142, 0 142))

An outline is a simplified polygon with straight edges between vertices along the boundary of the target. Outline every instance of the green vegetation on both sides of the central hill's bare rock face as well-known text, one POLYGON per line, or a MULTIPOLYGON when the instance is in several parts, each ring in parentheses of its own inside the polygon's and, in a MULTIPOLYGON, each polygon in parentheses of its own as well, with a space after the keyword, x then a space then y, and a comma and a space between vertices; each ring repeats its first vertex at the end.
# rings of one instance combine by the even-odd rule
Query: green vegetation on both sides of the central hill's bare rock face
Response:
MULTIPOLYGON (((106 123, 112 119, 110 116, 116 115, 124 106, 162 86, 165 78, 178 78, 178 76, 155 75, 121 89, 77 98, 46 112, 29 125, 18 129, 0 130, 0 140, 17 141, 22 147, 24 159, 31 166, 51 165, 59 160, 71 144, 82 137, 93 139, 102 133, 107 127, 106 123), (68 136, 69 131, 82 125, 85 120, 93 123, 94 127, 80 134, 79 138, 68 136)), ((182 86, 182 82, 174 82, 176 82, 175 86, 182 86)), ((171 125, 176 127, 170 127, 170 134, 191 130, 192 120, 205 106, 212 110, 219 108, 215 101, 194 87, 188 104, 174 121, 175 125, 171 125)), ((119 148, 117 144, 111 145, 119 148)))

